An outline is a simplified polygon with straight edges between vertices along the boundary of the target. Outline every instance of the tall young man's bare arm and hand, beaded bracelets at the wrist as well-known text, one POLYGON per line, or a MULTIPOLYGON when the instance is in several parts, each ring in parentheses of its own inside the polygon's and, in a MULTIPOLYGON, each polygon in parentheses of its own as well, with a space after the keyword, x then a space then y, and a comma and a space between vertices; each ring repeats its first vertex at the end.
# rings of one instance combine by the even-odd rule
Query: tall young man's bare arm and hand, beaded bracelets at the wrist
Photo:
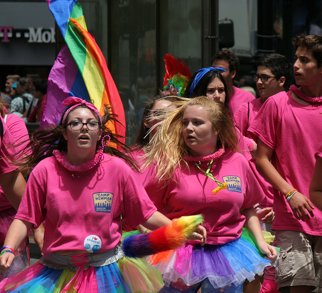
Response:
MULTIPOLYGON (((290 185, 284 178, 277 172, 275 167, 271 163, 271 158, 273 154, 273 149, 267 146, 260 139, 257 141, 257 159, 256 168, 262 174, 262 176, 272 184, 272 186, 280 191, 284 196, 291 190, 293 186, 290 185)), ((288 202, 290 205, 294 217, 297 220, 309 220, 309 215, 313 217, 314 209, 313 204, 308 198, 303 196, 302 193, 296 192, 293 197, 288 202), (309 215, 308 215, 309 214, 309 215)))

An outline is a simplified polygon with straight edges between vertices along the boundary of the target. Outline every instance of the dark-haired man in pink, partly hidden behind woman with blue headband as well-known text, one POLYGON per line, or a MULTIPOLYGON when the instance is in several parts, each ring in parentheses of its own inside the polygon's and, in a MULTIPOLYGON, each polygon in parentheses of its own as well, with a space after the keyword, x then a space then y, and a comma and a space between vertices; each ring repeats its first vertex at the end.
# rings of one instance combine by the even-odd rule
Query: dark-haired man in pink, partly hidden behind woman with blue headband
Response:
POLYGON ((251 92, 233 86, 233 80, 238 72, 240 64, 238 57, 233 52, 228 49, 222 50, 212 58, 211 63, 212 67, 221 67, 226 70, 221 72, 221 75, 225 79, 228 87, 230 111, 232 114, 234 114, 241 104, 255 100, 255 96, 251 92))

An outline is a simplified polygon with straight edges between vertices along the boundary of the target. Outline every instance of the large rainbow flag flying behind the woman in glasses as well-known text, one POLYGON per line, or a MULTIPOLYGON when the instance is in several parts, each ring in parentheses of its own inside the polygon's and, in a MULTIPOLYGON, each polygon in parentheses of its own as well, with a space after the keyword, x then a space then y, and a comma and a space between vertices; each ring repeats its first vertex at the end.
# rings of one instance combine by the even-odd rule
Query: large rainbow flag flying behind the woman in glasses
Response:
MULTIPOLYGON (((87 31, 81 5, 75 0, 46 0, 64 37, 64 45, 48 77, 48 92, 41 128, 57 125, 68 96, 77 96, 104 114, 104 105, 112 107, 120 123, 109 122, 109 129, 125 136, 125 114, 114 80, 103 53, 87 31)), ((124 142, 124 140, 122 141, 124 142)))

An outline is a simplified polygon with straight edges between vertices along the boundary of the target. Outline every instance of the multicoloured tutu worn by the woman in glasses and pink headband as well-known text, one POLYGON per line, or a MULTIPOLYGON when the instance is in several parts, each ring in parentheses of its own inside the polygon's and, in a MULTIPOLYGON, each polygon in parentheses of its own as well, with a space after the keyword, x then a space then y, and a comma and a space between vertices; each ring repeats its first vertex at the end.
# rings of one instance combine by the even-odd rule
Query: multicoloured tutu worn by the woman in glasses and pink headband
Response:
POLYGON ((40 259, 34 265, 0 282, 0 292, 149 293, 158 292, 163 287, 162 275, 141 258, 121 256, 107 265, 96 266, 97 263, 90 263, 93 255, 98 262, 105 261, 101 260, 98 253, 52 255, 53 258, 66 259, 68 262, 72 259, 73 265, 64 269, 53 268, 61 266, 63 261, 57 262, 56 265, 55 262, 46 260, 48 256, 45 256, 44 261, 40 259))

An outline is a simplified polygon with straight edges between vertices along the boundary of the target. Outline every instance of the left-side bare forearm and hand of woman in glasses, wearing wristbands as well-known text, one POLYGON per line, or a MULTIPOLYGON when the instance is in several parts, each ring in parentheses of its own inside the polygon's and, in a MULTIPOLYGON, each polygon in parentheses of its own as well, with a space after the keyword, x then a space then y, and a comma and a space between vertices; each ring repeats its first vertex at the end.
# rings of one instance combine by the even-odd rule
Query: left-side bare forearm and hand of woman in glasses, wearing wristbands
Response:
MULTIPOLYGON (((26 238, 32 224, 26 221, 15 219, 8 230, 4 246, 11 246, 15 251, 21 242, 26 238)), ((15 255, 4 253, 0 256, 0 270, 5 271, 10 268, 15 255)))

